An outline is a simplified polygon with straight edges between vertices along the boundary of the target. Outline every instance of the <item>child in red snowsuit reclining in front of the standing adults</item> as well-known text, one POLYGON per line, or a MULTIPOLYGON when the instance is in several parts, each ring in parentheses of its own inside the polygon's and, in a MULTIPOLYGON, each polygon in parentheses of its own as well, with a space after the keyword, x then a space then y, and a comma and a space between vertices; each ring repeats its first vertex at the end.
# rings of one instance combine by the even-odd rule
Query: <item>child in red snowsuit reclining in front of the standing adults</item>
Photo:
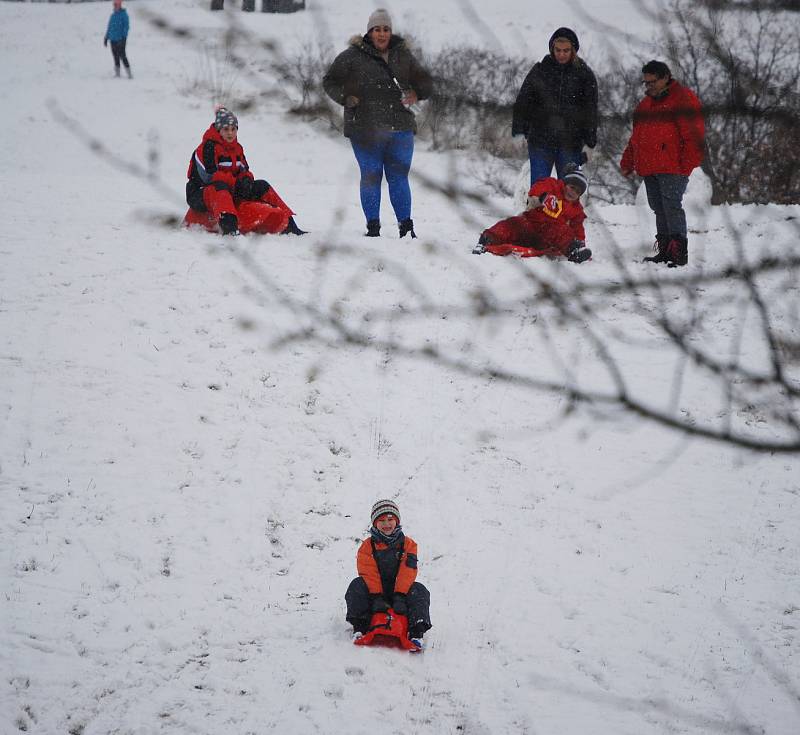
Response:
POLYGON ((586 177, 574 164, 567 166, 563 179, 535 181, 528 192, 528 209, 484 230, 472 252, 513 253, 522 258, 564 256, 583 263, 592 257, 586 247, 586 213, 580 202, 586 187, 586 177))

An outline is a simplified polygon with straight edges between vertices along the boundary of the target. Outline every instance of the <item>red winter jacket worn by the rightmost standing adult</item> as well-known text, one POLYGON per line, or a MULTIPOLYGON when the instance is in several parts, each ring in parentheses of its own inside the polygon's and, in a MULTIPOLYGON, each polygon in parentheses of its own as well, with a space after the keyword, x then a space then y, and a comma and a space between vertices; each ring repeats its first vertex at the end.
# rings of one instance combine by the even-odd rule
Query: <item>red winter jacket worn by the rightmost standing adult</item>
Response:
POLYGON ((688 176, 703 160, 704 136, 700 100, 673 79, 662 96, 647 96, 637 105, 620 168, 639 176, 688 176))

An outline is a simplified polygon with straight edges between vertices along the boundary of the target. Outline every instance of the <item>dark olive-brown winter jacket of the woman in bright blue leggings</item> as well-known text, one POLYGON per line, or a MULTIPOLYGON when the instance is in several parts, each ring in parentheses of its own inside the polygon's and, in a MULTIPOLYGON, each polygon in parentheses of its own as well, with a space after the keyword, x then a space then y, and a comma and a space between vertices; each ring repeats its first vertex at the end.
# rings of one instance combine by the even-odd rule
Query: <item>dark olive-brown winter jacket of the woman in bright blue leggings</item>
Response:
POLYGON ((401 100, 409 89, 421 100, 430 97, 433 79, 402 37, 393 35, 388 51, 387 63, 368 36, 354 36, 322 80, 334 102, 344 105, 347 97, 358 98, 356 106, 344 109, 344 134, 348 138, 375 130, 416 132, 414 113, 401 100))

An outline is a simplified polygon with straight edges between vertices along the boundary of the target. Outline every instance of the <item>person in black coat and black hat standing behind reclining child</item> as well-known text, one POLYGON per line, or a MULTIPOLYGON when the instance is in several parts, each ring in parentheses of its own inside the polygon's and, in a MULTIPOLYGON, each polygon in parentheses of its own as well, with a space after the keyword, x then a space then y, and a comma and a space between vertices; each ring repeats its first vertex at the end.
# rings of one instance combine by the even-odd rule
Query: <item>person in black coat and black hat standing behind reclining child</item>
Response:
POLYGON ((578 37, 559 28, 550 37, 550 53, 525 77, 514 103, 512 135, 528 139, 531 184, 559 178, 568 163, 585 161, 583 146, 597 144, 597 80, 578 56, 578 37))

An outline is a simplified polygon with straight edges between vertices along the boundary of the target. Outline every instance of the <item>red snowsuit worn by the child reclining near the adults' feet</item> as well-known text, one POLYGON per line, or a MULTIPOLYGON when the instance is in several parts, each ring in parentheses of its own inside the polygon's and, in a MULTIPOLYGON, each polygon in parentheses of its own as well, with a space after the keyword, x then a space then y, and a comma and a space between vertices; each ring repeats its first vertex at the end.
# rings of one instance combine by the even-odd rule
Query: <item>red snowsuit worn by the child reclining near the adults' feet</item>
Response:
POLYGON ((538 255, 566 255, 573 240, 584 240, 583 221, 586 213, 579 200, 567 201, 561 179, 539 179, 528 196, 544 195, 544 204, 536 209, 500 220, 483 231, 486 251, 495 255, 515 253, 522 258, 538 255))

